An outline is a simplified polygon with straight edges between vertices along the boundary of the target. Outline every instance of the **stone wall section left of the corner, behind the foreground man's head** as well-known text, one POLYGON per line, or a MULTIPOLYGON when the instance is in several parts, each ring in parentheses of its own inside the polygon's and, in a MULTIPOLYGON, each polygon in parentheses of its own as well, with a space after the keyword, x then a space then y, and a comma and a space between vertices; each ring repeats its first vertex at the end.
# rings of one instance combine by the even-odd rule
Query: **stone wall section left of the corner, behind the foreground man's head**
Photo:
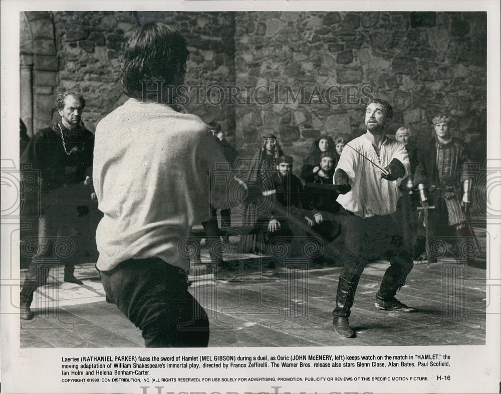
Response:
MULTIPOLYGON (((54 19, 62 65, 59 91, 84 94, 83 121, 92 131, 127 99, 119 83, 120 55, 138 23, 164 21, 181 30, 190 52, 188 86, 226 86, 234 81, 232 13, 57 12, 54 19)), ((233 109, 211 105, 204 95, 197 102, 196 92, 189 92, 189 102, 194 104, 187 104, 187 109, 206 122, 218 120, 224 130, 234 131, 233 109)))

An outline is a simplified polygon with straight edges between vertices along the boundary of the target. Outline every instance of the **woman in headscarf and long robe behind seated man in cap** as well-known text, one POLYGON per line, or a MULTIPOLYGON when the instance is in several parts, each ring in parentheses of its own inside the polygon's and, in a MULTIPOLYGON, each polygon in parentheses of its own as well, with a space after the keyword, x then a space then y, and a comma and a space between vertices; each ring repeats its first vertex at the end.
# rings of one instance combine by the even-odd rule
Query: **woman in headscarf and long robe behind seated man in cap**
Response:
MULTIPOLYGON (((284 152, 277 141, 277 137, 274 134, 264 134, 261 147, 254 155, 245 178, 249 192, 252 190, 273 189, 271 174, 276 169, 278 157, 283 154, 284 152)), ((264 204, 261 199, 253 199, 244 204, 242 226, 252 226, 255 229, 249 235, 242 237, 242 250, 244 252, 263 253, 264 242, 259 240, 259 233, 263 224, 260 218, 266 217, 264 212, 266 209, 267 204, 264 204)))

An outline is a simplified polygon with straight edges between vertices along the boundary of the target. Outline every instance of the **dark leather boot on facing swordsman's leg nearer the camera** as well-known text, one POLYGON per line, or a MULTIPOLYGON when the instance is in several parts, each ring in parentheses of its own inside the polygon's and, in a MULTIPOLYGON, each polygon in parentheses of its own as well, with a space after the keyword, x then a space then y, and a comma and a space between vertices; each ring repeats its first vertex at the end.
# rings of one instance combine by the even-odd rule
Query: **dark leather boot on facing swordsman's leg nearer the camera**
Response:
POLYGON ((336 333, 346 338, 353 338, 355 336, 355 332, 349 325, 348 318, 350 317, 350 308, 353 306, 359 280, 360 277, 358 276, 354 276, 351 281, 342 276, 339 277, 336 308, 332 311, 333 324, 336 333))

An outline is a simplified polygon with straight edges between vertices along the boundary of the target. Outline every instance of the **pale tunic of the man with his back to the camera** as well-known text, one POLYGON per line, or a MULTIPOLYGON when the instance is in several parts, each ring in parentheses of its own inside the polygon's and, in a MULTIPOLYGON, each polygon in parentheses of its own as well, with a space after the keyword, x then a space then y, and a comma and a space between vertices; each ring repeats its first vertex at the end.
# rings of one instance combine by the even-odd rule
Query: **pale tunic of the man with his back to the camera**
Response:
POLYGON ((104 217, 97 268, 158 257, 189 269, 183 238, 208 219, 208 171, 227 163, 195 115, 129 99, 96 128, 93 180, 104 217))

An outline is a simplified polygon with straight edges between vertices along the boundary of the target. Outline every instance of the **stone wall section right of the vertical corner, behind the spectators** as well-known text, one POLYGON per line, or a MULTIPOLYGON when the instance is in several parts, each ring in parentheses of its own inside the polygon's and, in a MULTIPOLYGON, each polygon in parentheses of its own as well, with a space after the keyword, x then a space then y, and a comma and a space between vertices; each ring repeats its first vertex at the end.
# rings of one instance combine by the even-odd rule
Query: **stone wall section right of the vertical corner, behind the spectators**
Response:
POLYGON ((260 103, 236 109, 246 154, 258 134, 273 132, 298 172, 321 133, 365 132, 364 102, 374 96, 393 105, 389 133, 405 124, 421 140, 445 112, 484 160, 485 13, 250 12, 235 20, 236 85, 270 87, 260 103), (304 89, 303 99, 294 102, 287 89, 295 96, 304 89))

